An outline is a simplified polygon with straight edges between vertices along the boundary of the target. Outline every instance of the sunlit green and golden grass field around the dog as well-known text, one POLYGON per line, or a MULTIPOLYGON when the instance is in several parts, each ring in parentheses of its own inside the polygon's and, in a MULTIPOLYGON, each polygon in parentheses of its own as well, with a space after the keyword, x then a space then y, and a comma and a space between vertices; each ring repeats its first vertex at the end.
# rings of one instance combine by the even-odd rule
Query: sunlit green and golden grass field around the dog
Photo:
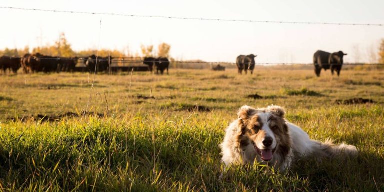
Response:
POLYGON ((384 70, 169 72, 97 74, 94 83, 87 73, 1 75, 0 189, 384 190, 384 70), (222 174, 218 144, 245 104, 283 106, 311 138, 353 144, 359 155, 301 159, 286 173, 254 165, 222 174))

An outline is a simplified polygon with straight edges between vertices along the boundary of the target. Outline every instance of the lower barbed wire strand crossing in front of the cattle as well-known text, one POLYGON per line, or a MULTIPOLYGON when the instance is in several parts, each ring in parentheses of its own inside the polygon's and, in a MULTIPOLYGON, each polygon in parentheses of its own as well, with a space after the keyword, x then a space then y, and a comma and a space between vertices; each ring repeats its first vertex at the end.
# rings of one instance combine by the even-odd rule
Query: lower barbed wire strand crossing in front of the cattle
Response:
MULTIPOLYGON (((0 56, 0 58, 3 56, 0 56)), ((9 57, 11 59, 21 59, 25 57, 9 57)), ((27 58, 27 57, 26 57, 27 58)), ((75 61, 87 61, 89 58, 88 57, 40 57, 40 60, 75 60, 75 61)), ((96 60, 95 58, 91 58, 92 60, 96 60)), ((143 64, 145 61, 144 59, 140 59, 137 57, 121 57, 121 58, 97 58, 97 62, 105 62, 105 61, 110 61, 110 63, 131 63, 131 64, 143 64), (134 58, 134 60, 129 60, 129 59, 124 59, 124 58, 134 58)), ((159 63, 159 62, 164 62, 164 61, 159 61, 159 60, 154 60, 154 61, 147 61, 147 62, 153 62, 153 63, 159 63)), ((228 65, 235 65, 236 62, 224 62, 224 61, 172 61, 169 60, 169 63, 185 63, 185 64, 228 64, 228 65)), ((274 62, 255 62, 255 65, 311 65, 313 63, 274 63, 274 62)), ((334 63, 333 65, 338 65, 337 63, 334 63)), ((384 65, 382 63, 343 63, 342 65, 384 65)))

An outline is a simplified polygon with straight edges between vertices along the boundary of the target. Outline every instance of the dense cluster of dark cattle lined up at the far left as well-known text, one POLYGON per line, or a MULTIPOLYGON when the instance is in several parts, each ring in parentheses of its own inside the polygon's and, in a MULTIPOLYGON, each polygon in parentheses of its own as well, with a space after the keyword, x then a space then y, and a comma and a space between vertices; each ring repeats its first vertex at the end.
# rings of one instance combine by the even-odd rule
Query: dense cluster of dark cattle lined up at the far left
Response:
POLYGON ((25 54, 23 57, 10 57, 10 56, 1 56, 0 57, 0 69, 3 73, 17 71, 22 68, 24 73, 35 73, 35 72, 74 72, 74 71, 89 71, 89 72, 115 72, 117 69, 127 71, 129 68, 136 68, 141 71, 153 71, 153 67, 156 67, 156 73, 159 71, 161 74, 166 72, 168 73, 169 69, 169 60, 165 57, 145 57, 143 64, 147 66, 141 67, 119 67, 112 66, 113 57, 96 57, 96 55, 91 55, 88 57, 54 57, 42 55, 39 53, 36 54, 25 54), (83 61, 85 67, 76 67, 76 64, 79 60, 83 61), (96 64, 97 62, 97 64, 96 64), (125 70, 124 70, 125 69, 125 70))

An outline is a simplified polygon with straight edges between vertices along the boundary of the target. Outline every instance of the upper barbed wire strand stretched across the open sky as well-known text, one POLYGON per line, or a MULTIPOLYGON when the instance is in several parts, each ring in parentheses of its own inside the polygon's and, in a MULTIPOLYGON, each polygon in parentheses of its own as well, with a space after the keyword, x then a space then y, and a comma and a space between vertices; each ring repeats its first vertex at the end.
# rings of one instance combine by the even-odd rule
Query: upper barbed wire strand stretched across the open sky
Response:
POLYGON ((198 17, 177 17, 163 15, 136 15, 122 13, 105 13, 105 12, 85 12, 72 10, 52 10, 38 8, 20 8, 10 6, 0 6, 1 9, 27 10, 27 11, 43 11, 56 13, 71 13, 71 14, 90 14, 90 15, 110 15, 124 17, 142 17, 142 18, 163 18, 163 19, 178 19, 178 20, 203 20, 203 21, 224 21, 224 22, 252 22, 252 23, 274 23, 274 24, 322 24, 322 25, 348 25, 348 26, 384 26, 377 23, 337 23, 337 22, 303 22, 303 21, 276 21, 276 20, 245 20, 245 19, 222 19, 222 18, 198 18, 198 17))

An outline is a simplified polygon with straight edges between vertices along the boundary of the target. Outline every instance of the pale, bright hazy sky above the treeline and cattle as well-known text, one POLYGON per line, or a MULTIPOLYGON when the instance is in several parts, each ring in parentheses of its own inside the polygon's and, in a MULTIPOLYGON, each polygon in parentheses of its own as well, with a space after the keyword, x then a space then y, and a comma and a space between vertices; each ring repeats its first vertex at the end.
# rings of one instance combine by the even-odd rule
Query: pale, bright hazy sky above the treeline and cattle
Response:
MULTIPOLYGON (((384 24, 384 0, 1 0, 0 6, 245 20, 384 24)), ((344 62, 372 62, 384 26, 177 20, 0 9, 0 49, 53 44, 61 32, 74 50, 140 53, 165 42, 179 60, 312 63, 316 50, 348 53, 344 62), (101 25, 100 25, 101 20, 101 25)))

